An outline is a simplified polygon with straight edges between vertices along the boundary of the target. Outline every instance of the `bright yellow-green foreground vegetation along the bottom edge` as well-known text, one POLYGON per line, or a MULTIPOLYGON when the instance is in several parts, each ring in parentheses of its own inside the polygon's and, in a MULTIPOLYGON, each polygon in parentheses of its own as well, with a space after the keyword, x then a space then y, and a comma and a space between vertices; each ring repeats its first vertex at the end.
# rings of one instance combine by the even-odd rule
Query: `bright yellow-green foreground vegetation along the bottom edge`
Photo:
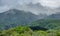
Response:
POLYGON ((20 26, 0 31, 0 36, 60 36, 60 30, 33 31, 29 27, 20 26))

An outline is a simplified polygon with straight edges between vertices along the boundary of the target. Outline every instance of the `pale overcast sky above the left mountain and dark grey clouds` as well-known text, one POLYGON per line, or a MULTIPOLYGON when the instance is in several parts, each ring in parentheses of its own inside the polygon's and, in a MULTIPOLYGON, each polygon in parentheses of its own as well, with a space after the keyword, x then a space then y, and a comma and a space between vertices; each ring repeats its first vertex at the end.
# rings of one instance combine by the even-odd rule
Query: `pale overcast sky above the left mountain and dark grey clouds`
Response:
POLYGON ((0 0, 0 12, 11 9, 17 4, 40 3, 44 7, 55 9, 60 7, 60 0, 0 0))

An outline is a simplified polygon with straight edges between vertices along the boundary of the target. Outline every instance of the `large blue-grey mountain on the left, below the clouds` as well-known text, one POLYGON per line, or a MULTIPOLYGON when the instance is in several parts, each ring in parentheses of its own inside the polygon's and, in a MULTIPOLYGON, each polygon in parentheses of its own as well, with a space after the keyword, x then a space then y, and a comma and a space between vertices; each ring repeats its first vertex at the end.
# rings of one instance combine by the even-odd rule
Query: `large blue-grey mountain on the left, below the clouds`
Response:
POLYGON ((0 29, 8 29, 19 25, 27 25, 28 23, 37 20, 37 15, 23 10, 10 9, 0 13, 0 29))

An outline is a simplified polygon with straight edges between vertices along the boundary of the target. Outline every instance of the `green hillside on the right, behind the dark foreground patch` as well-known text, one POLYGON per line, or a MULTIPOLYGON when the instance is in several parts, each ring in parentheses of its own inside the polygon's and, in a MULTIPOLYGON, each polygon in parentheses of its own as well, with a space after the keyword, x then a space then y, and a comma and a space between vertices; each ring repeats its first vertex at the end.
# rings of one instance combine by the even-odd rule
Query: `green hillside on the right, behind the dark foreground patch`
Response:
POLYGON ((32 26, 40 26, 48 29, 60 29, 60 19, 41 19, 31 23, 32 26))

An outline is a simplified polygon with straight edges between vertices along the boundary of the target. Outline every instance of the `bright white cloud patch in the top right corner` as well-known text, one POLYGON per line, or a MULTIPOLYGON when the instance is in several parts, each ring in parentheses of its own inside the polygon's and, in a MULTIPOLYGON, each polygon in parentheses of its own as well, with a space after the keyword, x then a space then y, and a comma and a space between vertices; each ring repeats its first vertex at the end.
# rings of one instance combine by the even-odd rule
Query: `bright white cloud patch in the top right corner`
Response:
POLYGON ((39 2, 46 7, 57 8, 60 7, 60 0, 39 0, 39 2))

